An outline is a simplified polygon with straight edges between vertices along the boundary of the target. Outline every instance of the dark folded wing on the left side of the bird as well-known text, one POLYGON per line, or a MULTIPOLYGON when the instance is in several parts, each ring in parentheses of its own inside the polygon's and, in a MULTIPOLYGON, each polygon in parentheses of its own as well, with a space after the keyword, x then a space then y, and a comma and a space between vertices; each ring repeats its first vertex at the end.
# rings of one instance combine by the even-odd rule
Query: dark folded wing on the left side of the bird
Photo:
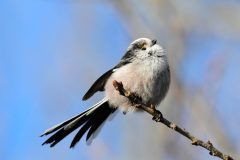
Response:
MULTIPOLYGON (((126 56, 126 55, 124 55, 126 56)), ((104 73, 101 77, 99 77, 93 85, 90 87, 90 89, 85 93, 82 100, 89 99, 92 95, 94 95, 97 91, 104 91, 104 86, 108 80, 108 78, 112 75, 113 72, 115 72, 118 68, 130 63, 130 59, 124 59, 124 57, 121 59, 121 61, 112 69, 108 70, 106 73, 104 73)))

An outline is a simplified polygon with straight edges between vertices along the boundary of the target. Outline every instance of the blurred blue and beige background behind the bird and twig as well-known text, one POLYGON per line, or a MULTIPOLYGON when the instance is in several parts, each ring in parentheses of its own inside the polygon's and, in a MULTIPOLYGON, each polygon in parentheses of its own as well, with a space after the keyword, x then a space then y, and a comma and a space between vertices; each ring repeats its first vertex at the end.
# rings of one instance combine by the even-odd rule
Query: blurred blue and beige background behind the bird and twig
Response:
POLYGON ((5 0, 0 23, 0 159, 217 159, 144 113, 116 115, 91 145, 69 149, 71 134, 41 146, 44 130, 103 97, 81 101, 140 37, 168 51, 163 115, 240 158, 239 1, 5 0))

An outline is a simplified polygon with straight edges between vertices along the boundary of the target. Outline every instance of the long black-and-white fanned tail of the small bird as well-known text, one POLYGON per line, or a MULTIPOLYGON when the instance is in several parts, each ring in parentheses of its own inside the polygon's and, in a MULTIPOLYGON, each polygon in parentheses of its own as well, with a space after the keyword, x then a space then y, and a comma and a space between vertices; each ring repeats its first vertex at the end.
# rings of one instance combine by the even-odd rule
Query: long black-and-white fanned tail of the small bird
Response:
POLYGON ((88 140, 91 135, 100 127, 100 125, 108 118, 108 116, 115 110, 115 108, 111 108, 109 106, 107 99, 103 99, 79 115, 46 130, 41 137, 54 132, 55 133, 42 145, 50 144, 50 147, 53 147, 75 129, 81 127, 72 140, 70 145, 70 148, 72 148, 87 131, 88 133, 86 140, 88 140))

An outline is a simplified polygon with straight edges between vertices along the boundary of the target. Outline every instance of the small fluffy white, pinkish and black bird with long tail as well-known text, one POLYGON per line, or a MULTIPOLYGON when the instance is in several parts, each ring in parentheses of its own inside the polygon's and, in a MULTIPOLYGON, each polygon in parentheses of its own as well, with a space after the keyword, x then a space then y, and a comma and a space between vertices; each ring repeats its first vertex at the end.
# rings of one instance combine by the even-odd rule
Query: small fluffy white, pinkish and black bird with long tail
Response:
POLYGON ((93 136, 117 109, 124 113, 138 110, 114 88, 115 80, 122 82, 124 89, 141 98, 143 104, 159 105, 170 85, 170 69, 165 50, 157 44, 157 40, 139 38, 133 41, 120 62, 99 77, 82 99, 89 99, 97 91, 105 91, 105 97, 86 111, 45 131, 41 136, 52 135, 43 145, 50 144, 53 147, 80 128, 71 142, 70 148, 73 148, 85 133, 86 140, 93 136))

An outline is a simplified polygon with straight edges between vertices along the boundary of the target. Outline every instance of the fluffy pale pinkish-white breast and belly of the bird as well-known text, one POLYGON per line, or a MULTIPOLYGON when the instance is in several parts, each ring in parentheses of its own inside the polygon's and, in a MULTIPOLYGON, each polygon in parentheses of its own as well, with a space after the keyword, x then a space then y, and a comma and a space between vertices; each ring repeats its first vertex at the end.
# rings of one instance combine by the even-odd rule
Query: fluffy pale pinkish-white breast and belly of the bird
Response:
MULTIPOLYGON (((129 63, 117 69, 108 79, 105 85, 106 97, 113 107, 120 107, 123 110, 129 110, 131 103, 129 100, 119 95, 112 85, 114 80, 122 82, 126 90, 141 97, 144 103, 151 103, 157 105, 163 99, 167 90, 164 89, 163 82, 164 71, 168 67, 164 61, 140 61, 136 63, 129 63), (165 91, 166 90, 166 91, 165 91)), ((167 81, 165 79, 164 81, 167 81)), ((168 89, 168 87, 167 87, 168 89)))

